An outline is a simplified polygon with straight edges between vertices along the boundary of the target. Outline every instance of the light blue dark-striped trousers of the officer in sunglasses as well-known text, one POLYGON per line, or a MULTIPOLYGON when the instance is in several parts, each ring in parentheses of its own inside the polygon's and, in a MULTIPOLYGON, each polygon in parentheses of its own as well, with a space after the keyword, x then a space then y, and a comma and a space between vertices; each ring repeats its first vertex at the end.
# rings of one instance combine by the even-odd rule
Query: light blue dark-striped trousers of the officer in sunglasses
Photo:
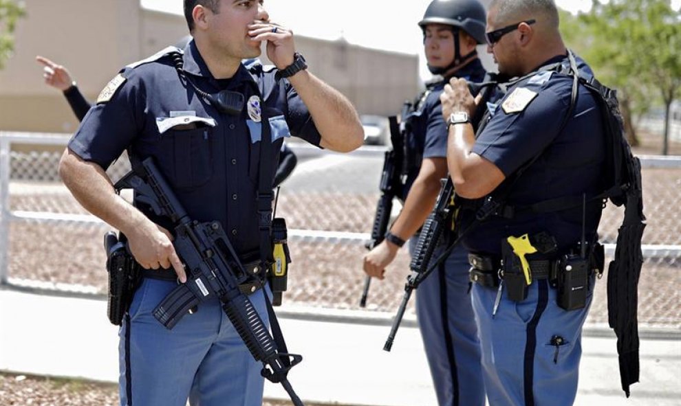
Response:
POLYGON ((504 292, 495 318, 492 318, 492 308, 497 289, 473 285, 473 309, 482 343, 482 366, 490 406, 532 403, 567 406, 574 403, 581 358, 581 331, 591 305, 594 280, 592 278, 590 283, 587 306, 577 311, 560 308, 556 304, 556 289, 546 286, 546 283, 545 280, 532 283, 526 300, 518 303, 508 300, 504 292), (543 311, 539 308, 542 284, 547 288, 543 311), (532 320, 537 314, 539 317, 532 327, 532 320), (528 341, 528 334, 534 339, 534 345, 531 340, 528 341), (551 345, 554 335, 565 339, 565 345, 558 349, 555 363, 556 347, 551 345), (534 351, 530 357, 526 349, 531 347, 534 351), (526 385, 526 378, 530 377, 531 382, 526 385), (531 399, 526 403, 530 394, 531 399))

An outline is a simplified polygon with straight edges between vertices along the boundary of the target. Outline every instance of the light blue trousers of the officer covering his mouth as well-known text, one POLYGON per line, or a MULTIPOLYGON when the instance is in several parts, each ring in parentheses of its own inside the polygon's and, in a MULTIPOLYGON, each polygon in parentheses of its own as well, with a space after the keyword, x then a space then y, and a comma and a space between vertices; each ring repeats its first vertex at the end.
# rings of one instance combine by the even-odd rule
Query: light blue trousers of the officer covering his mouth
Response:
MULTIPOLYGON (((120 328, 122 406, 259 406, 261 363, 255 361, 218 300, 199 304, 168 330, 151 314, 175 282, 144 278, 120 328)), ((263 289, 249 296, 263 322, 263 289)))

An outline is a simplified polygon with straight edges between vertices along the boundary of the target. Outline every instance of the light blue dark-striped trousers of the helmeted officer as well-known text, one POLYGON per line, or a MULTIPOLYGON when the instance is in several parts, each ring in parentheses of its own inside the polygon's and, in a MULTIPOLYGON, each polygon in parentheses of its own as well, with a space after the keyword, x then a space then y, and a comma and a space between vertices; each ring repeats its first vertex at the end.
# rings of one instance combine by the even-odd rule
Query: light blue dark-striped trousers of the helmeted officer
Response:
MULTIPOLYGON (((417 239, 409 240, 412 254, 417 239)), ((435 250, 433 261, 442 251, 435 250)), ((440 406, 485 404, 469 268, 468 254, 457 247, 416 289, 416 315, 440 406)))

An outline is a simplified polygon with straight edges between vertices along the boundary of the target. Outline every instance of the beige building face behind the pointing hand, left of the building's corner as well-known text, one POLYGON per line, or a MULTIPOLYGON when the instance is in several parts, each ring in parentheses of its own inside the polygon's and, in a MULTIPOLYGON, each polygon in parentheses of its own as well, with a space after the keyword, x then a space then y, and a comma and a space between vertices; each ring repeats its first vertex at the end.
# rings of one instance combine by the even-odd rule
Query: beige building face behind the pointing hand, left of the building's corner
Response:
POLYGON ((43 84, 40 54, 69 67, 93 98, 116 66, 139 54, 138 0, 32 0, 17 25, 15 53, 0 71, 0 129, 73 131, 62 95, 43 84), (126 27, 125 30, 122 27, 126 27))

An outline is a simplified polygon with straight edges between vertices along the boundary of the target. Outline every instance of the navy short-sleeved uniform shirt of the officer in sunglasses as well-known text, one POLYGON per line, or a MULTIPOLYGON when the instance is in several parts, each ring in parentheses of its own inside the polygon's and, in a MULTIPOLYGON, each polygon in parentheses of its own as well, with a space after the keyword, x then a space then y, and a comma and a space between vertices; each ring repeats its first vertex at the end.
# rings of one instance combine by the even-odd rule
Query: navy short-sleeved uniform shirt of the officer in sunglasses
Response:
MULTIPOLYGON (((568 63, 567 56, 557 56, 542 66, 568 63)), ((578 58, 581 74, 593 76, 591 69, 578 58)), ((506 179, 497 191, 510 188, 507 205, 522 207, 547 201, 581 197, 589 199, 603 191, 605 135, 601 113, 594 96, 583 86, 572 114, 559 133, 568 113, 572 93, 572 76, 538 69, 537 73, 510 87, 496 105, 490 107, 490 119, 479 133, 473 153, 497 166, 506 179), (541 154, 517 181, 515 172, 541 154)), ((601 218, 601 201, 587 203, 586 237, 596 234, 601 218)), ((465 210, 462 225, 471 222, 473 212, 465 210)), ((513 218, 491 216, 464 237, 464 246, 475 253, 500 255, 501 240, 508 236, 538 232, 552 234, 560 253, 581 240, 582 207, 557 212, 520 212, 513 218)))

